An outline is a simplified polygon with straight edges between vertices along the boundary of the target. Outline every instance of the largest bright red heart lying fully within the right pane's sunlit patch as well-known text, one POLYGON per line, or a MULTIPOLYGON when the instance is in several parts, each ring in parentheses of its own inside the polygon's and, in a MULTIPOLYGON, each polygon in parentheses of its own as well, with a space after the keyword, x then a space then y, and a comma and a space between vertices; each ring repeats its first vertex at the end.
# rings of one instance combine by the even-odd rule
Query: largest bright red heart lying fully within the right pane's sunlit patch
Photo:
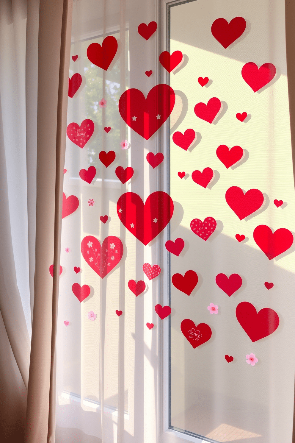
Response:
POLYGON ((244 194, 241 188, 232 186, 226 191, 226 203, 240 220, 260 209, 263 202, 264 196, 259 189, 249 189, 244 194))

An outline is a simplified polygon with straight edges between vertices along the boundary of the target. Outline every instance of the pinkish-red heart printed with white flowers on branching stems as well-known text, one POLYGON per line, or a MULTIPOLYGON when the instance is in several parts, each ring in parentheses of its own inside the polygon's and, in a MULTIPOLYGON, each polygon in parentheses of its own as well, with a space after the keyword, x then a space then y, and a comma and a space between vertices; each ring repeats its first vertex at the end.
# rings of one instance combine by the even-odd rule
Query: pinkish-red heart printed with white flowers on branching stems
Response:
POLYGON ((110 235, 100 242, 96 237, 88 235, 81 241, 81 253, 90 268, 101 278, 114 269, 123 256, 123 243, 114 235, 110 235))

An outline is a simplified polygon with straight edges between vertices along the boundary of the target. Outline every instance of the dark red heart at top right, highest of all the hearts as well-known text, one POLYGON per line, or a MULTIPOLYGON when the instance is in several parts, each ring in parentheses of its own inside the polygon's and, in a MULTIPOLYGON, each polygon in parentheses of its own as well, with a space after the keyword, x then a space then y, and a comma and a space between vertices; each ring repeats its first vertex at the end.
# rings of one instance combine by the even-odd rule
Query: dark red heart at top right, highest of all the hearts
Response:
POLYGON ((246 20, 243 17, 235 17, 230 20, 216 19, 211 26, 213 37, 226 49, 234 43, 245 31, 246 20))

